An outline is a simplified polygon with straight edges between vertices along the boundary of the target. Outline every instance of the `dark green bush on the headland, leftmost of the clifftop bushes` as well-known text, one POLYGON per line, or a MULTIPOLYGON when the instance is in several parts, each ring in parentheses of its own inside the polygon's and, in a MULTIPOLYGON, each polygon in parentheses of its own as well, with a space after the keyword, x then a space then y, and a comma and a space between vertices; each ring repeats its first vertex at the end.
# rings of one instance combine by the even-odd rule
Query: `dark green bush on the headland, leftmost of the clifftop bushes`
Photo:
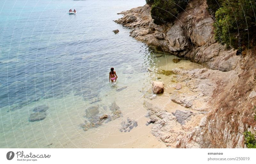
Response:
POLYGON ((157 25, 168 24, 183 11, 188 0, 154 0, 151 6, 151 17, 157 25))

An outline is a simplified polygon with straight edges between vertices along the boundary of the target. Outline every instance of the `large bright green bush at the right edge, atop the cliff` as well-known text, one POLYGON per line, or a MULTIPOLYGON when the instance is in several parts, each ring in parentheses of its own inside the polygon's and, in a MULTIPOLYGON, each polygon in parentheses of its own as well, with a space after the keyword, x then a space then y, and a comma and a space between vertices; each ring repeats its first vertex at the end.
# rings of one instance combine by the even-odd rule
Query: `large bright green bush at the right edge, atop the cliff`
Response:
POLYGON ((256 38, 256 2, 248 0, 223 0, 216 13, 215 39, 227 48, 243 50, 253 46, 256 38))

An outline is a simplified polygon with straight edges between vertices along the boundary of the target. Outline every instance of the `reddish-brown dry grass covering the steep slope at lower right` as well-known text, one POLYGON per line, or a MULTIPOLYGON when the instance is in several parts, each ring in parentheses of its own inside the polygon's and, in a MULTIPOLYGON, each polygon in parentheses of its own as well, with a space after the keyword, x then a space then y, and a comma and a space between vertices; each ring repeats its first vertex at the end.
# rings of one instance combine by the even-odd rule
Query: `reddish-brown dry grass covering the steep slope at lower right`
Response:
POLYGON ((256 60, 251 52, 241 58, 241 63, 235 70, 236 78, 231 79, 234 83, 214 91, 212 101, 215 102, 215 110, 208 115, 210 125, 208 124, 204 135, 205 141, 210 141, 203 147, 244 147, 243 132, 248 129, 253 131, 255 128, 255 111, 252 109, 256 105, 256 98, 249 98, 249 94, 256 88, 256 60), (214 130, 209 132, 211 128, 214 130))

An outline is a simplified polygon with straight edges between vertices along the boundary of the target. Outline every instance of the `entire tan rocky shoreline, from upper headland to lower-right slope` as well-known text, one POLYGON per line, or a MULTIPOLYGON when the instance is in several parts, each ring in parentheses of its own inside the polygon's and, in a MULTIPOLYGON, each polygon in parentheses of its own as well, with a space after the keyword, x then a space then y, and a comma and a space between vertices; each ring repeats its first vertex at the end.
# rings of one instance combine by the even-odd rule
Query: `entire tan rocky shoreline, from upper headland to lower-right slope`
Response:
POLYGON ((243 132, 245 129, 256 131, 254 121, 246 115, 252 115, 252 111, 248 112, 245 105, 249 104, 250 108, 256 103, 252 96, 254 58, 252 51, 248 51, 246 57, 236 56, 236 50, 225 50, 215 41, 213 19, 207 11, 206 0, 190 1, 186 12, 163 26, 153 23, 147 4, 118 14, 124 17, 115 22, 131 28, 130 36, 136 40, 207 67, 171 70, 177 77, 177 85, 168 99, 187 110, 170 113, 152 99, 144 102, 148 124, 154 124, 151 133, 169 147, 246 147, 243 132), (243 81, 243 89, 239 88, 240 81, 243 81), (180 92, 183 87, 186 90, 180 92))

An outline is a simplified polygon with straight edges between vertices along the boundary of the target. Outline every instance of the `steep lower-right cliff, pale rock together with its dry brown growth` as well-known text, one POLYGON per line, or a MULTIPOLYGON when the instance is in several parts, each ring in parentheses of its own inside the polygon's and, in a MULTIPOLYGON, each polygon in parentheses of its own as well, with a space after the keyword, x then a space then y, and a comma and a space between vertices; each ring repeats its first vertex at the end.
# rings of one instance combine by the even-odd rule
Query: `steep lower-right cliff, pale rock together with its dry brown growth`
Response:
POLYGON ((235 70, 218 76, 221 85, 214 87, 209 103, 212 109, 198 126, 177 139, 177 148, 246 148, 243 133, 255 133, 256 64, 252 51, 241 58, 235 70))

